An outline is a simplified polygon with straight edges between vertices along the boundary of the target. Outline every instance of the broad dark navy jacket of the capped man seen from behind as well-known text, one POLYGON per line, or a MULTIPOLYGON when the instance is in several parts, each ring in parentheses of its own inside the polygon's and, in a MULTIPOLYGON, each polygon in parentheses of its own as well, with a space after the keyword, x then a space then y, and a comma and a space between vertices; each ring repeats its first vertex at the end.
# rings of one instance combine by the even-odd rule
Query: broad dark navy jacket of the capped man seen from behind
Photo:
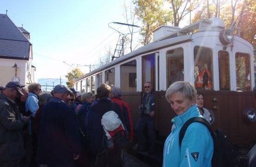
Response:
POLYGON ((67 103, 53 97, 38 116, 37 162, 62 166, 74 163, 74 154, 81 154, 76 115, 67 103))

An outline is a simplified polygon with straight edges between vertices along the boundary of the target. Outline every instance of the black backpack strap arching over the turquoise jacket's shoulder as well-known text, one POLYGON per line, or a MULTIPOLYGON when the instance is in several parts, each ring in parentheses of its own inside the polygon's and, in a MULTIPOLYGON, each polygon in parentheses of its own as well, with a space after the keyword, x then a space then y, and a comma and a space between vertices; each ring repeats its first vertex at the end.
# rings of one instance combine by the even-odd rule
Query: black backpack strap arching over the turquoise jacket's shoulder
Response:
POLYGON ((212 131, 212 128, 209 124, 209 122, 207 122, 204 118, 202 117, 193 117, 193 118, 190 118, 187 122, 184 123, 184 125, 182 126, 181 128, 181 131, 180 131, 180 134, 179 134, 179 143, 180 143, 180 146, 182 145, 182 140, 184 138, 184 135, 185 135, 185 132, 187 130, 187 128, 189 127, 189 125, 193 122, 200 122, 202 124, 204 124, 208 130, 210 131, 212 137, 213 137, 213 140, 215 140, 215 136, 214 136, 214 133, 212 131))

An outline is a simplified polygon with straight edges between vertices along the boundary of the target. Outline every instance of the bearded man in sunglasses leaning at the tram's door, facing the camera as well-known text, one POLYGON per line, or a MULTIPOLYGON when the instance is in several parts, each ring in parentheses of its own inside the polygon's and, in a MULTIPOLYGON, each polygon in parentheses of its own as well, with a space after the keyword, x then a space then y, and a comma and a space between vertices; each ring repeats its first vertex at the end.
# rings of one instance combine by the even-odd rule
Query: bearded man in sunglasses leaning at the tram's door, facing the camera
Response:
POLYGON ((135 145, 135 150, 143 151, 146 149, 146 137, 144 128, 148 128, 148 137, 150 141, 149 154, 155 154, 155 96, 151 82, 144 84, 145 93, 142 96, 140 109, 140 119, 135 127, 135 135, 139 138, 140 144, 135 145))

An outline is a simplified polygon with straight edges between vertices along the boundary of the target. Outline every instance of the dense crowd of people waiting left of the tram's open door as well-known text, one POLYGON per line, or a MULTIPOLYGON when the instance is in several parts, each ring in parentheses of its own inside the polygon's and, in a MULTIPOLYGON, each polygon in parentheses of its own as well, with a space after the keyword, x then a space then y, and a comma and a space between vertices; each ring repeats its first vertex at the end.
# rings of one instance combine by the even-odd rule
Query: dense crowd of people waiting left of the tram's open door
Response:
POLYGON ((101 118, 109 110, 118 114, 132 141, 130 108, 118 87, 102 83, 94 101, 92 93, 64 85, 42 93, 39 83, 27 88, 7 83, 0 94, 0 167, 122 166, 122 148, 103 154, 101 118))

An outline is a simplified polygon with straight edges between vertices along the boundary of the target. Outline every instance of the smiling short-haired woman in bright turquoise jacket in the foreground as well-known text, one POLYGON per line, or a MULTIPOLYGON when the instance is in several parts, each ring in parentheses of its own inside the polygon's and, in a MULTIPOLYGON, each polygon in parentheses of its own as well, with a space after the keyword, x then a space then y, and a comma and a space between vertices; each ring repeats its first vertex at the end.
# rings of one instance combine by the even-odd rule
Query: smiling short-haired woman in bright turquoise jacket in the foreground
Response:
POLYGON ((163 167, 211 167, 213 139, 206 126, 194 122, 189 125, 181 146, 179 133, 182 125, 192 117, 202 117, 195 104, 196 90, 189 82, 170 85, 166 100, 177 114, 172 119, 175 129, 167 137, 163 150, 163 167))

